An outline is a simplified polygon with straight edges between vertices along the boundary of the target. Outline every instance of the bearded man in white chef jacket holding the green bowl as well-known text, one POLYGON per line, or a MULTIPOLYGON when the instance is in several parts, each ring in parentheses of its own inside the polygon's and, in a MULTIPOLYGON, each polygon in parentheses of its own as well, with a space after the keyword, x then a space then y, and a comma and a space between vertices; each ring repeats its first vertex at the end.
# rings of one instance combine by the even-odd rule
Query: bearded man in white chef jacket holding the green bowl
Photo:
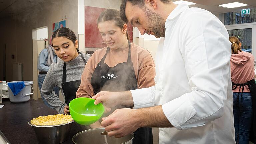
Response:
POLYGON ((106 107, 134 107, 102 118, 108 135, 160 127, 160 144, 235 144, 231 43, 221 21, 209 11, 169 0, 122 0, 120 11, 142 35, 162 38, 155 86, 93 97, 106 107))

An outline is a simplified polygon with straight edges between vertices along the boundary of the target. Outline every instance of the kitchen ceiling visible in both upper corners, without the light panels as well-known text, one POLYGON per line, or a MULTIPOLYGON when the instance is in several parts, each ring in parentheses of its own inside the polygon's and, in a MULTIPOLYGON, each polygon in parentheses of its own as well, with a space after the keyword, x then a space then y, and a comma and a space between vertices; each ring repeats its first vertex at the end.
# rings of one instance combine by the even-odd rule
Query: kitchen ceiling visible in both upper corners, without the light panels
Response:
MULTIPOLYGON (((0 17, 7 17, 12 15, 17 15, 25 10, 29 10, 31 7, 42 3, 45 0, 0 0, 0 17)), ((173 0, 178 1, 178 0, 173 0)), ((256 8, 256 0, 187 0, 196 3, 190 7, 199 7, 206 9, 213 14, 220 14, 226 12, 239 11, 246 8, 256 8), (231 3, 231 2, 241 2, 248 4, 248 6, 239 8, 223 8, 218 5, 231 3)))

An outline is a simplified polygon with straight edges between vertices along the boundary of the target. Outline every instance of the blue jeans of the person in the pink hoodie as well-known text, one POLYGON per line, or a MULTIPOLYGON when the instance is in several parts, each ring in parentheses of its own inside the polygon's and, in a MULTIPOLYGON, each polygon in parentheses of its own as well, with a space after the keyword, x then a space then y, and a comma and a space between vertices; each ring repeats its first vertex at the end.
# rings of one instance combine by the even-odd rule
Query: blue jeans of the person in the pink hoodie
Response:
POLYGON ((253 109, 251 93, 233 92, 234 97, 234 125, 235 125, 235 140, 239 144, 248 144, 250 128, 252 124, 253 109))

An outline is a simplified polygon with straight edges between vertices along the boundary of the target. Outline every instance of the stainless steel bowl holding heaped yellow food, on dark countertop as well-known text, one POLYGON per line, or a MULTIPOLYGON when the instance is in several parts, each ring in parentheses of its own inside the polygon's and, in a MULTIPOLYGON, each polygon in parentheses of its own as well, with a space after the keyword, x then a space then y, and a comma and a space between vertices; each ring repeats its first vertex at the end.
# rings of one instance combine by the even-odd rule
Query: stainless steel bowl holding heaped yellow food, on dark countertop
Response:
POLYGON ((59 125, 40 126, 33 125, 29 121, 28 124, 33 126, 40 144, 58 144, 67 140, 73 122, 74 121, 59 125))

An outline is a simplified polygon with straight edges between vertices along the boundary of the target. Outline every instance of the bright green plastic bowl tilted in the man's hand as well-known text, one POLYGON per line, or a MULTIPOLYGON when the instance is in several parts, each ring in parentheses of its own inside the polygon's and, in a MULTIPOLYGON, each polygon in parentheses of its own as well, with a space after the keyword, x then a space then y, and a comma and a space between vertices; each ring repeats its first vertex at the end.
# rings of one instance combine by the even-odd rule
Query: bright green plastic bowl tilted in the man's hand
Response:
POLYGON ((100 119, 104 113, 101 103, 95 105, 94 99, 75 98, 69 103, 70 115, 80 125, 90 125, 100 119))

